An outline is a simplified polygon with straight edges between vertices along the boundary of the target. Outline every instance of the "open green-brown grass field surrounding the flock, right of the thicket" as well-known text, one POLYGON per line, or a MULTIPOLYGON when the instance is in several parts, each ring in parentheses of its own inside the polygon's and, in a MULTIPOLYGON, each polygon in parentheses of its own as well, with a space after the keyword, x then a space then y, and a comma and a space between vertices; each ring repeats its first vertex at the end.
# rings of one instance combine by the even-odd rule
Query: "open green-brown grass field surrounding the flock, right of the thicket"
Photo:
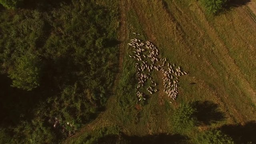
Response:
POLYGON ((104 126, 117 126, 129 136, 174 134, 171 121, 174 109, 187 102, 208 101, 224 114, 224 118, 216 122, 181 131, 180 134, 188 136, 189 143, 195 142, 195 133, 203 130, 256 120, 256 23, 246 6, 231 7, 212 16, 195 0, 116 3, 121 16, 121 43, 120 72, 114 94, 106 110, 81 132, 68 138, 67 144, 75 143, 84 132, 104 126), (154 42, 162 57, 189 72, 181 78, 180 94, 172 104, 162 91, 153 94, 145 104, 138 102, 134 78, 136 61, 128 57, 127 43, 132 38, 154 42))

